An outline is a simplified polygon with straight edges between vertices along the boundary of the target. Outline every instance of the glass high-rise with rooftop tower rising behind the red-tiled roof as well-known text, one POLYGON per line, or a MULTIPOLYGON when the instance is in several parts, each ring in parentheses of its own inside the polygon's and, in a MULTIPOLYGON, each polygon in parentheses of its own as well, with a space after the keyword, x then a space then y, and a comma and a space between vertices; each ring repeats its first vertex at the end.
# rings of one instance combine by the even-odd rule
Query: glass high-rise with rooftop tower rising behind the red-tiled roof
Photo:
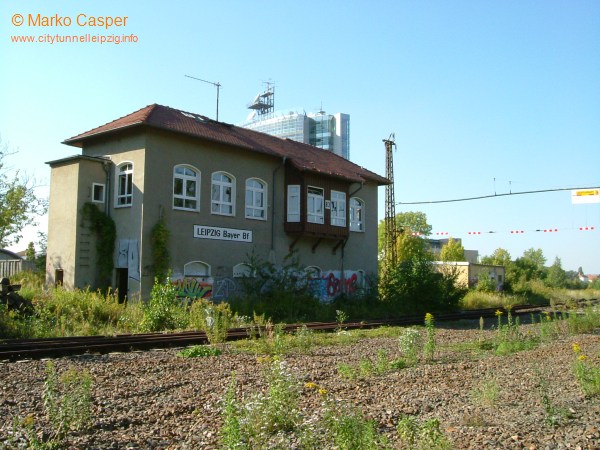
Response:
POLYGON ((302 114, 275 112, 275 92, 269 86, 248 106, 252 113, 241 126, 329 150, 350 159, 350 115, 325 111, 302 114))

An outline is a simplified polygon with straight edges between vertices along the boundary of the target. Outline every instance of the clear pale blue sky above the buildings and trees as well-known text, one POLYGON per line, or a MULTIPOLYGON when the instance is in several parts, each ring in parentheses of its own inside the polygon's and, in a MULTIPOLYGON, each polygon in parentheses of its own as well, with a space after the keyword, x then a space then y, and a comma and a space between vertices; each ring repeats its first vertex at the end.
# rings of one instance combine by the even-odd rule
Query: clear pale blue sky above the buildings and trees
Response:
MULTIPOLYGON (((215 88, 186 74, 222 84, 219 118, 229 123, 245 119, 265 81, 277 109, 350 114, 351 159, 382 175, 382 139, 394 132, 398 202, 600 186, 595 0, 3 0, 0 61, 0 135, 18 150, 8 163, 38 181, 39 195, 44 162, 77 153, 61 144, 68 137, 151 103, 214 117, 215 88), (73 24, 16 27, 15 14, 73 24), (128 16, 127 26, 80 27, 78 14, 128 16), (10 37, 86 33, 138 41, 10 37)), ((383 190, 380 199, 382 219, 383 190)), ((600 273, 600 204, 572 205, 569 191, 396 211, 425 212, 434 237, 448 232, 480 255, 541 248, 548 265, 558 256, 567 270, 600 273)))

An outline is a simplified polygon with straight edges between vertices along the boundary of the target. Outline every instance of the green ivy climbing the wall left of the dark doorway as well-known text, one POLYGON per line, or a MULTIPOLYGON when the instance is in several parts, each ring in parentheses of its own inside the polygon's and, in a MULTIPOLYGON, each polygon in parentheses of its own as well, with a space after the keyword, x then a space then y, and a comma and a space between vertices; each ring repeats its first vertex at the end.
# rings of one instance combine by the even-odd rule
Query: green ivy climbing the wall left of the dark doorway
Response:
POLYGON ((96 234, 98 274, 108 285, 114 268, 113 255, 117 238, 115 222, 93 203, 85 203, 81 212, 83 219, 88 222, 89 229, 96 234))

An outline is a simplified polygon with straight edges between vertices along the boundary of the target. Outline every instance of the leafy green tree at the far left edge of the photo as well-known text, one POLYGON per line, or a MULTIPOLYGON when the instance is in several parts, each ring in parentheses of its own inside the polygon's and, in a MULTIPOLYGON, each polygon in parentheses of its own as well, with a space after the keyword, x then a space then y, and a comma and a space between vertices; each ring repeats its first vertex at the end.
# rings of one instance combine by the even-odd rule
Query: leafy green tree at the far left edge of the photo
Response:
POLYGON ((35 195, 35 184, 5 167, 10 155, 0 140, 0 247, 18 242, 23 229, 47 209, 47 202, 35 195))

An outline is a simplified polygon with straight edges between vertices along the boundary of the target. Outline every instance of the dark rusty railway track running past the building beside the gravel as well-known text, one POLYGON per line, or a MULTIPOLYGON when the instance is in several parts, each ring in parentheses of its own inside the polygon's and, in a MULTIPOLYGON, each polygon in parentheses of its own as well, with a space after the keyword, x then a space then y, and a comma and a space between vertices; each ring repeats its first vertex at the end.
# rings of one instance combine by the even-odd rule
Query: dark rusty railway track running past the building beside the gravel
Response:
MULTIPOLYGON (((514 306, 513 315, 539 313, 546 307, 534 305, 514 306)), ((465 310, 435 316, 437 323, 459 320, 477 320, 480 317, 494 317, 498 308, 465 310)), ((506 312, 506 311, 504 311, 506 312)), ((423 315, 406 316, 398 319, 376 320, 368 322, 348 322, 343 326, 347 330, 378 328, 381 326, 410 326, 423 324, 423 315)), ((294 332, 306 326, 315 331, 333 331, 339 327, 336 322, 312 322, 288 324, 285 331, 294 332)), ((239 340, 249 337, 249 329, 232 328, 227 333, 227 340, 239 340)), ((189 345, 208 344, 208 337, 203 331, 185 331, 180 333, 146 333, 121 334, 116 336, 76 336, 44 339, 12 339, 0 342, 0 361, 17 361, 22 359, 56 358, 82 354, 102 354, 111 352, 128 352, 168 347, 186 347, 189 345)))

